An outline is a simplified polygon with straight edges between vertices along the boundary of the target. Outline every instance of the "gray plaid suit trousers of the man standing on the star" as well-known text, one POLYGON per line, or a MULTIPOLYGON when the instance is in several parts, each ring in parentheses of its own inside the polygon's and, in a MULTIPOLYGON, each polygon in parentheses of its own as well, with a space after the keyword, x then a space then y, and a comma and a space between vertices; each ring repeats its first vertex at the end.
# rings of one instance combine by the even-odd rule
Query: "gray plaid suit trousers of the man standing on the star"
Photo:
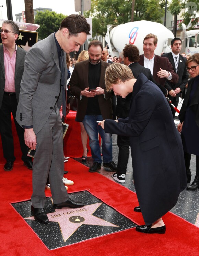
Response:
POLYGON ((53 203, 69 199, 63 183, 63 129, 57 104, 43 128, 36 134, 37 146, 33 161, 32 205, 44 208, 46 202, 45 186, 49 174, 53 203))

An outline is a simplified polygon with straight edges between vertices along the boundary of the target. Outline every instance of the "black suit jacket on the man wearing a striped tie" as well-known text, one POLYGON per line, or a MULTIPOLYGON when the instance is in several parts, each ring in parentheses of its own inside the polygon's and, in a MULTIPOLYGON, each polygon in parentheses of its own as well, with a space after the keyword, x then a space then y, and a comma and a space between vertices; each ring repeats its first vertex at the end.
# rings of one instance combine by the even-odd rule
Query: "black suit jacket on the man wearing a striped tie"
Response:
MULTIPOLYGON (((176 72, 176 67, 175 67, 175 63, 174 63, 174 59, 173 59, 173 55, 171 52, 169 53, 165 53, 162 55, 162 57, 167 57, 169 59, 169 61, 171 62, 174 71, 176 72)), ((179 62, 178 62, 178 76, 179 76, 179 80, 177 83, 171 83, 168 80, 165 83, 165 88, 169 91, 171 91, 172 89, 175 90, 177 87, 179 87, 181 89, 181 91, 183 91, 183 89, 185 88, 185 85, 188 82, 188 78, 189 78, 189 74, 186 70, 186 61, 187 59, 185 57, 182 57, 179 54, 179 62)), ((169 95, 169 99, 173 100, 174 98, 176 99, 176 101, 179 101, 179 95, 180 93, 178 93, 176 95, 176 97, 171 97, 169 95)))

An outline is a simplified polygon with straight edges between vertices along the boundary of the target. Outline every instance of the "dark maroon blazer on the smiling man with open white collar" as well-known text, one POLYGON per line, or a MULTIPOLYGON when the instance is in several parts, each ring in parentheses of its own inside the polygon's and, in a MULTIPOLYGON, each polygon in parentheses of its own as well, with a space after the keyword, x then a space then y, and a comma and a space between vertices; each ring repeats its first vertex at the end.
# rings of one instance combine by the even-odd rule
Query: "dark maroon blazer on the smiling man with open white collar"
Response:
MULTIPOLYGON (((138 63, 140 65, 144 66, 144 54, 140 55, 140 61, 138 63)), ((155 81, 157 83, 164 86, 167 79, 159 78, 157 76, 157 72, 160 71, 160 68, 171 73, 172 79, 170 80, 170 82, 172 82, 174 84, 176 84, 178 82, 178 75, 174 72, 173 67, 172 67, 171 63, 169 62, 169 60, 165 60, 165 59, 163 59, 163 57, 155 54, 154 66, 153 66, 153 78, 155 79, 155 81)))

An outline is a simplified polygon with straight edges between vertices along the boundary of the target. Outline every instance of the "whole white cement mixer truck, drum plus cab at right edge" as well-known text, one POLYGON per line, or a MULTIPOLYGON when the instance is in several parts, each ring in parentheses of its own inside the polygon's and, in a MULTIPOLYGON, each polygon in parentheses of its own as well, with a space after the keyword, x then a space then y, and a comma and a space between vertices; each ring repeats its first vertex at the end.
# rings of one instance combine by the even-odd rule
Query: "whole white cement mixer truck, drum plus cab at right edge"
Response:
MULTIPOLYGON (((186 32, 185 25, 183 25, 183 34, 180 37, 182 39, 181 52, 190 55, 199 53, 199 30, 186 32)), ((129 43, 136 45, 140 54, 143 54, 143 39, 149 33, 157 35, 158 38, 155 54, 161 55, 162 52, 171 52, 171 40, 174 35, 160 23, 141 20, 118 26, 108 25, 107 28, 105 40, 109 45, 109 55, 119 56, 125 44, 129 43)))

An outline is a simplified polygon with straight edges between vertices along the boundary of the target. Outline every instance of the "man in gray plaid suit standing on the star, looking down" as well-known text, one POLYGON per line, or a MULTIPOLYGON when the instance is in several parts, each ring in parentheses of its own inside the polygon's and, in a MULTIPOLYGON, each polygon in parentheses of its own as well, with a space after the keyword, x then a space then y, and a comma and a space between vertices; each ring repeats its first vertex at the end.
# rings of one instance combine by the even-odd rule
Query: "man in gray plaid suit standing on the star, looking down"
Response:
POLYGON ((17 122, 25 129, 26 145, 36 149, 31 211, 35 220, 44 224, 48 223, 44 210, 48 175, 55 209, 84 206, 69 199, 62 181, 64 155, 59 109, 63 103, 66 115, 66 53, 78 51, 89 31, 86 19, 72 14, 62 21, 56 33, 33 45, 25 58, 17 122))

